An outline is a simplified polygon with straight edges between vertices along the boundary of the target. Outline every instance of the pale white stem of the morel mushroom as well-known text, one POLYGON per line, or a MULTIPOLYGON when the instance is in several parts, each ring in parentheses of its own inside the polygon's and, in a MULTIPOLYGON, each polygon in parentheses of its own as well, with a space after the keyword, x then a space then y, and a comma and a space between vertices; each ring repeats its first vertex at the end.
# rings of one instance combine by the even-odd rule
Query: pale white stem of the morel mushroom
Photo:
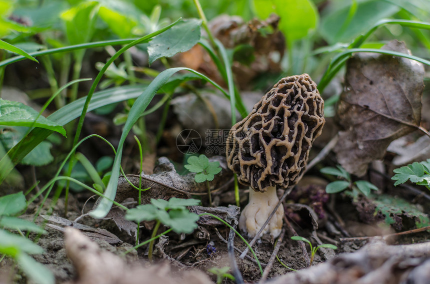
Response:
MULTIPOLYGON (((250 188, 248 205, 240 214, 239 229, 247 232, 248 237, 255 237, 278 202, 275 187, 269 187, 266 192, 256 192, 250 188)), ((283 207, 279 206, 262 234, 270 233, 274 238, 279 236, 283 214, 283 207)))

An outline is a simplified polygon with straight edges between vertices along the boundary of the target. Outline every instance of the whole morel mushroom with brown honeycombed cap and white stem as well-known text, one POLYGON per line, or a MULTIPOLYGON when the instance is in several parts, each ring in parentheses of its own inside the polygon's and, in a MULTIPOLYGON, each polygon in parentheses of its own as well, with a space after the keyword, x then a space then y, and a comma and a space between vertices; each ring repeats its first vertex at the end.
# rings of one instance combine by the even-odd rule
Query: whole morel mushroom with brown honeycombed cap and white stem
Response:
MULTIPOLYGON (((310 147, 325 123, 324 101, 309 75, 281 79, 256 103, 228 135, 228 167, 248 185, 249 203, 239 228, 254 237, 278 203, 276 187, 295 185, 306 166, 310 147)), ((263 233, 280 234, 283 208, 279 206, 263 233)))

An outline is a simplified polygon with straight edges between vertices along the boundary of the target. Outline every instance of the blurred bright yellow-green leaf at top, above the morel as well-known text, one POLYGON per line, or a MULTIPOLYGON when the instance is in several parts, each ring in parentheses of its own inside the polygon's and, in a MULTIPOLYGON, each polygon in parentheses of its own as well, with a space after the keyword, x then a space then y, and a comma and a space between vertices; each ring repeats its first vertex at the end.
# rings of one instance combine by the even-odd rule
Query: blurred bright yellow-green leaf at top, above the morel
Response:
POLYGON ((317 26, 318 11, 310 0, 253 0, 253 3, 261 19, 271 13, 280 17, 278 27, 287 41, 303 38, 317 26))

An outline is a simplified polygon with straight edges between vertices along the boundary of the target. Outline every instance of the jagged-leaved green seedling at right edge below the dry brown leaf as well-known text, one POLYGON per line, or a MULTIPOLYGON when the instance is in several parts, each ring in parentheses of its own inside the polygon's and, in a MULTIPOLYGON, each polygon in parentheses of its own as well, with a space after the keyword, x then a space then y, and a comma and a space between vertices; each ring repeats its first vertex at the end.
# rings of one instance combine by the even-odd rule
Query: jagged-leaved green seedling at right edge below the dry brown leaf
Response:
POLYGON ((423 185, 430 190, 430 159, 394 169, 393 172, 395 175, 391 179, 395 180, 394 186, 409 180, 417 185, 423 185))

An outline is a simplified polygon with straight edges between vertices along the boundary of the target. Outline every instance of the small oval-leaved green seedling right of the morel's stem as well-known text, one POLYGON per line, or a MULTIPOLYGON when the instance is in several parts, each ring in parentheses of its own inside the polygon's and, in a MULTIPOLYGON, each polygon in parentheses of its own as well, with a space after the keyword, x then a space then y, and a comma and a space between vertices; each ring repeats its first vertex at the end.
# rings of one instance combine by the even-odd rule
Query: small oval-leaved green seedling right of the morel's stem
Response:
POLYGON ((370 194, 370 190, 378 190, 378 188, 372 183, 364 180, 359 180, 352 182, 350 174, 345 171, 341 166, 337 166, 337 168, 333 167, 325 167, 320 170, 321 173, 336 176, 337 178, 341 178, 343 180, 334 181, 325 187, 326 193, 337 193, 341 192, 345 189, 351 189, 353 192, 361 192, 365 196, 370 194))

